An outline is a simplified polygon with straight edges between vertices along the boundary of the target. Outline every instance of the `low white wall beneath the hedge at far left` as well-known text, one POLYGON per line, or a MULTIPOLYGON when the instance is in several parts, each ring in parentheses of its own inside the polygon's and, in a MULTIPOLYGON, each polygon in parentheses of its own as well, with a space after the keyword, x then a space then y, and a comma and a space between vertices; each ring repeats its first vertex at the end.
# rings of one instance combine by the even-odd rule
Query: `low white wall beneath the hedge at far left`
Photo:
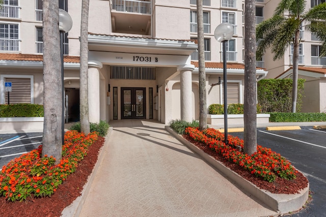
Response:
POLYGON ((43 129, 44 117, 0 117, 0 130, 43 129))

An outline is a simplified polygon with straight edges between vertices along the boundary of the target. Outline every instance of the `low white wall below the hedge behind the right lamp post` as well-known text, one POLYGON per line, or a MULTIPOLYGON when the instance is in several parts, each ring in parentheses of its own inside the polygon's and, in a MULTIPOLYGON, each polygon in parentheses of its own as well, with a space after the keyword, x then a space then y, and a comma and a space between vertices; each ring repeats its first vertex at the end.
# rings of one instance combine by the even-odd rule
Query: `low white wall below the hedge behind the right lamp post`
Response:
MULTIPOLYGON (((257 114, 257 123, 268 123, 269 114, 257 114)), ((243 114, 228 114, 228 124, 237 125, 243 123, 243 114)), ((207 124, 223 125, 224 114, 207 114, 207 124)))

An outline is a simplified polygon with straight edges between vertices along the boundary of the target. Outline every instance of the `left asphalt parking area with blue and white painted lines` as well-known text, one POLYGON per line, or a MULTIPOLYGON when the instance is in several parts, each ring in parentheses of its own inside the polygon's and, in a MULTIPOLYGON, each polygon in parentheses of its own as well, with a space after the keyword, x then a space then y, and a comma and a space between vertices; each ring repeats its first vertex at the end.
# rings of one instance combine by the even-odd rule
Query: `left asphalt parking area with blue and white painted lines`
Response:
POLYGON ((42 144, 42 133, 0 134, 0 169, 42 144))

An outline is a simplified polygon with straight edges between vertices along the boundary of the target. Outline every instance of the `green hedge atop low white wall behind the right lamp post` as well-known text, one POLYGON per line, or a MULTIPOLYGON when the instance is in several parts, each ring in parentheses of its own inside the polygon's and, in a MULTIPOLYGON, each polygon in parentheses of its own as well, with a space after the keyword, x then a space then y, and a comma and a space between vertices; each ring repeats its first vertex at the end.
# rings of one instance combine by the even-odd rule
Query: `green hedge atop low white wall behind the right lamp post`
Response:
MULTIPOLYGON (((261 106, 257 104, 257 114, 261 113, 261 106)), ((224 114, 224 105, 211 104, 208 106, 208 114, 224 114)), ((243 114, 243 104, 228 105, 228 114, 243 114)))

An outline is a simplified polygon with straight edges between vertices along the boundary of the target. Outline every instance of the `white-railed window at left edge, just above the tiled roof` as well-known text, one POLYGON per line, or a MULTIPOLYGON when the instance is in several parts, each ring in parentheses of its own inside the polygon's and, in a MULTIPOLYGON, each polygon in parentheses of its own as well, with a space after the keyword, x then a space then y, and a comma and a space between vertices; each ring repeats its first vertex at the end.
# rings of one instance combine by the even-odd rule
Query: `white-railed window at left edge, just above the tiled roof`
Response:
POLYGON ((19 25, 0 23, 0 50, 19 51, 19 25))

